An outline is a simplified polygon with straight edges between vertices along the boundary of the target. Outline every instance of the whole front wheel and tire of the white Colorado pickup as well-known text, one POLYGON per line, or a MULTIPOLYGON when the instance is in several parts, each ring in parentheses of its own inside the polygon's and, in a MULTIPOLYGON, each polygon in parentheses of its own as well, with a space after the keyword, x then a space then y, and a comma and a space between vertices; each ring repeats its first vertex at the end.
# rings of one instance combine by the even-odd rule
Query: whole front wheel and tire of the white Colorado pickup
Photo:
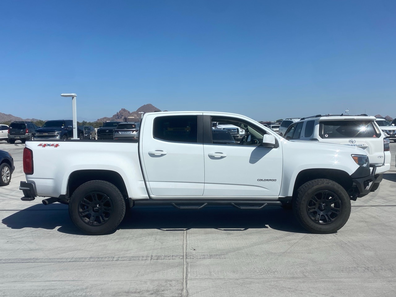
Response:
POLYGON ((329 179, 308 181, 297 190, 293 212, 299 223, 316 234, 334 233, 349 219, 350 198, 345 189, 329 179))

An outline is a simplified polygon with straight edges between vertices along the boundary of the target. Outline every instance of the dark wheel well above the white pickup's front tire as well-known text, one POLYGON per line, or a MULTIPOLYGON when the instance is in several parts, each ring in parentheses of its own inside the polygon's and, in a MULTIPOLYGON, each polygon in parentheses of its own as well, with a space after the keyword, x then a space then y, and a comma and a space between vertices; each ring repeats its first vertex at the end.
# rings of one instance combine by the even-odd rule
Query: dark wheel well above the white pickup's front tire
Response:
POLYGON ((293 188, 293 197, 300 186, 307 183, 307 181, 312 181, 314 179, 330 179, 341 185, 341 187, 345 188, 347 192, 352 187, 352 178, 345 171, 339 169, 322 168, 305 169, 299 172, 297 175, 293 188))

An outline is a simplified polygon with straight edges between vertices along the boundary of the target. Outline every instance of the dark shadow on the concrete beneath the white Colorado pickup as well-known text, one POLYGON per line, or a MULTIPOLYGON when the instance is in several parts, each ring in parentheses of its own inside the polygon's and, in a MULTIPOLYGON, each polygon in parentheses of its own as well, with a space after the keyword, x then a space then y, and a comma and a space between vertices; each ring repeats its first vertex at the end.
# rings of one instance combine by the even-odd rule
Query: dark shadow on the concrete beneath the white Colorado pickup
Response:
MULTIPOLYGON (((70 221, 66 205, 54 203, 48 206, 36 204, 17 211, 2 220, 12 229, 43 228, 59 232, 86 235, 70 221)), ((171 206, 136 206, 128 209, 118 229, 158 229, 181 231, 214 228, 223 231, 272 228, 285 232, 308 233, 293 216, 292 211, 280 207, 261 210, 240 210, 232 207, 211 206, 200 210, 179 210, 171 206)), ((115 231, 116 232, 116 231, 115 231)))

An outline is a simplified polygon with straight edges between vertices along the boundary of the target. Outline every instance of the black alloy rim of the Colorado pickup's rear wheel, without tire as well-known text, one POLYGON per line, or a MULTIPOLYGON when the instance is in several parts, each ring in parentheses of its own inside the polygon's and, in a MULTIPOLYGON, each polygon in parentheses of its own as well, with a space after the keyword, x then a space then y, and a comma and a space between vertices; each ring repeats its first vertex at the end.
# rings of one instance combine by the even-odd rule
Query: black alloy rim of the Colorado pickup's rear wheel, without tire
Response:
POLYGON ((89 192, 79 203, 80 219, 88 226, 100 226, 110 218, 113 204, 109 197, 101 192, 89 192))

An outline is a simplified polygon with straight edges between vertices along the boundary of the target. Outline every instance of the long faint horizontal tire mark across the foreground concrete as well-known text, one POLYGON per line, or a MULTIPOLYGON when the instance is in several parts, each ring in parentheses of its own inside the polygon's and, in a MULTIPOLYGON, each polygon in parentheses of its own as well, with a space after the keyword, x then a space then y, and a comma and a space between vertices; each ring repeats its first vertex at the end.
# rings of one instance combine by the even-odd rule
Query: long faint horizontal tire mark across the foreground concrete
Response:
MULTIPOLYGON (((225 254, 194 254, 186 255, 186 259, 225 259, 225 254)), ((150 255, 123 257, 78 257, 78 258, 30 258, 0 259, 0 264, 9 263, 69 263, 69 262, 113 262, 113 261, 152 261, 152 260, 183 260, 184 255, 150 255)))

